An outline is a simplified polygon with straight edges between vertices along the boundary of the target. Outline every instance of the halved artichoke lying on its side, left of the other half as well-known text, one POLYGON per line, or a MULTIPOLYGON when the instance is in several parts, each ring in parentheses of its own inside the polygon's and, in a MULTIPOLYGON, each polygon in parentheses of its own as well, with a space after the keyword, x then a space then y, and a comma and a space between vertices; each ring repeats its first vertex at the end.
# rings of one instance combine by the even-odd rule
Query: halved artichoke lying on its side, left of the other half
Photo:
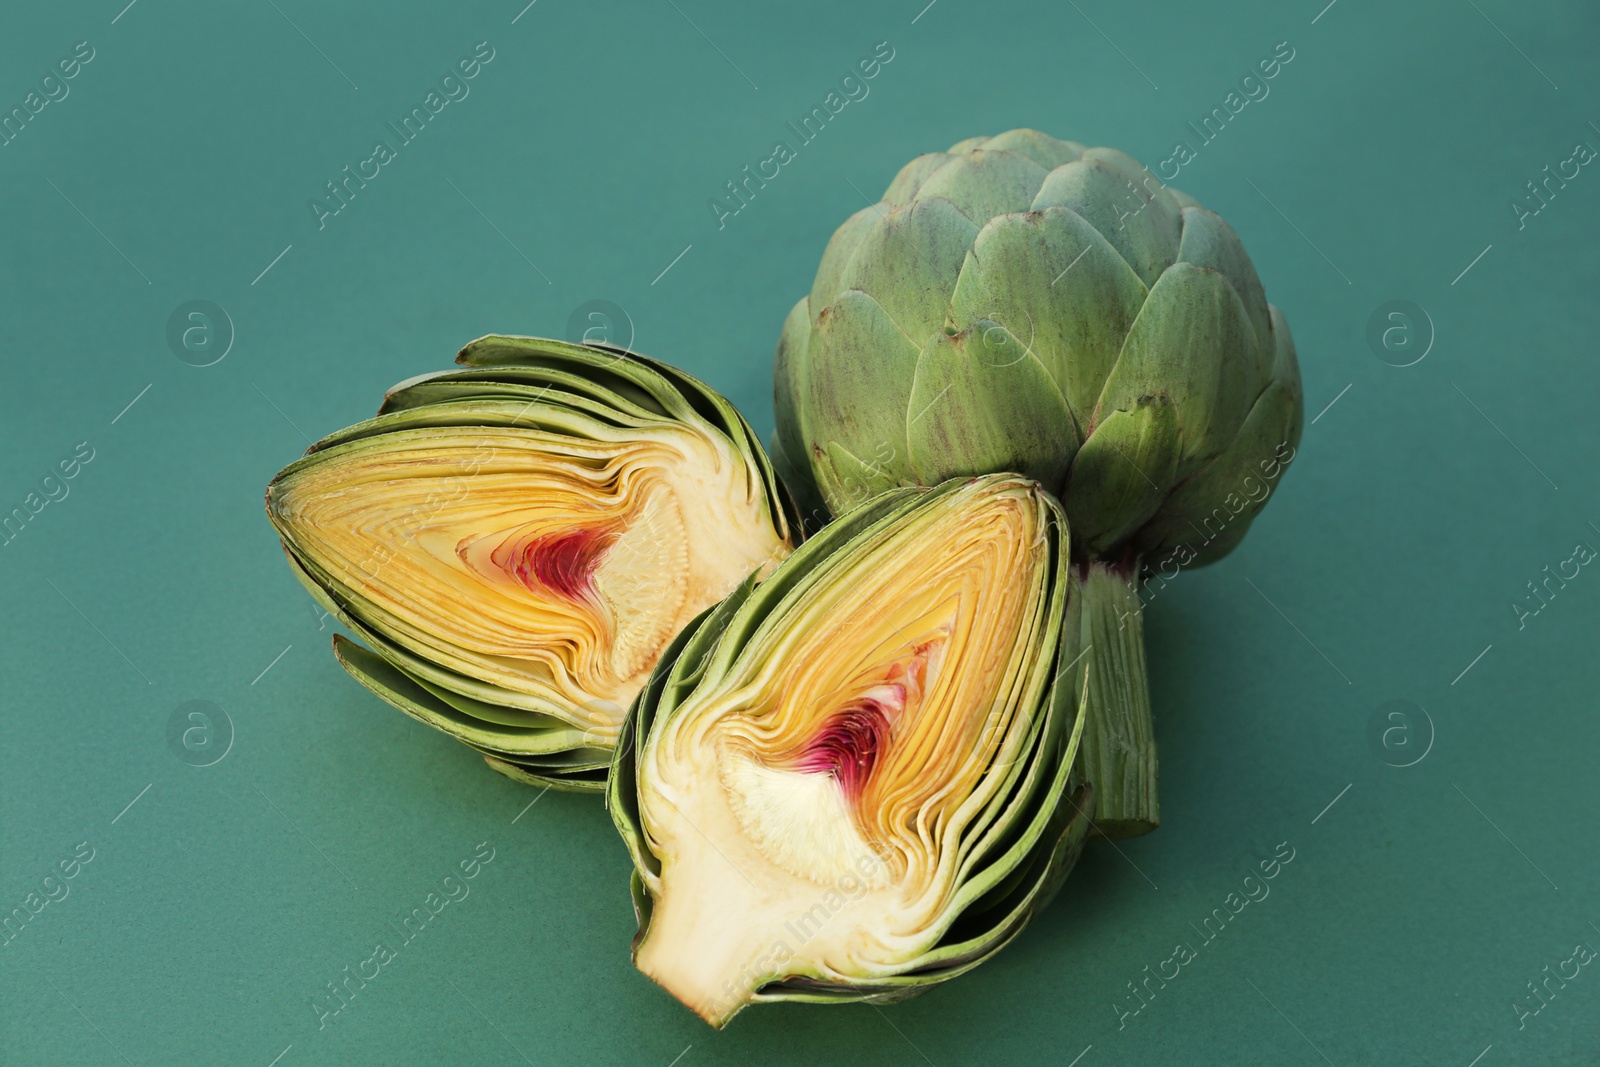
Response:
POLYGON ((339 662, 512 777, 600 790, 627 704, 707 606, 792 549, 733 406, 662 363, 490 336, 267 486, 339 662))

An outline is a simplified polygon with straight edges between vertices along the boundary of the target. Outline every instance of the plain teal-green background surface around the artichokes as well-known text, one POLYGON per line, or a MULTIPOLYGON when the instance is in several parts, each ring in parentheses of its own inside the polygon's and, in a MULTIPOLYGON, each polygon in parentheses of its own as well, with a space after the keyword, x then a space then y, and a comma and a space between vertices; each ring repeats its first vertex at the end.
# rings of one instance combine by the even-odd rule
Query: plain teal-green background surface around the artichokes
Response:
POLYGON ((0 949, 0 1059, 1600 1059, 1600 968, 1523 1029, 1514 1008, 1600 947, 1600 574, 1522 629, 1512 608, 1600 547, 1600 173, 1523 229, 1510 208, 1600 146, 1600 14, 1322 3, 14 5, 0 109, 77 42, 94 59, 0 147, 0 510, 77 443, 94 458, 0 547, 0 907, 94 857, 0 949), (707 200, 882 40, 870 94, 718 229, 707 200), (309 198, 478 42, 470 94, 318 229, 309 198), (709 1030, 629 965, 597 801, 528 809, 350 681, 262 486, 464 341, 565 336, 594 299, 765 435, 779 323, 901 163, 1037 126, 1155 166, 1278 42, 1270 96, 1174 184, 1293 323, 1307 427, 1243 545, 1150 601, 1165 824, 1091 849, 1024 937, 920 1000, 709 1030), (166 342, 194 299, 237 334, 205 368, 166 342), (1413 366, 1366 339, 1394 299, 1437 334, 1413 366), (205 768, 166 734, 197 699, 234 731, 205 768), (1386 747, 1389 701, 1427 717, 1386 747), (470 896, 318 1030, 310 998, 480 841, 470 896), (1270 896, 1200 945, 1283 841, 1270 896), (1178 942, 1198 958, 1118 1029, 1178 942))

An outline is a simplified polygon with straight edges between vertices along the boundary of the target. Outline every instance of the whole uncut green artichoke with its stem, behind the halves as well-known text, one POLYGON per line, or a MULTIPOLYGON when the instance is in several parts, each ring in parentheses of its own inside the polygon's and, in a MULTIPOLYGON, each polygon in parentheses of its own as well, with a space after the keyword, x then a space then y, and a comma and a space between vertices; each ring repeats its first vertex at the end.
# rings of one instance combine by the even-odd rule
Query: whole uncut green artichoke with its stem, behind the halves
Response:
POLYGON ((1232 550, 1302 422, 1288 325, 1227 222, 1115 149, 962 141, 834 234, 774 378, 774 462, 835 515, 998 470, 1061 498, 1098 830, 1154 829, 1139 574, 1232 550))

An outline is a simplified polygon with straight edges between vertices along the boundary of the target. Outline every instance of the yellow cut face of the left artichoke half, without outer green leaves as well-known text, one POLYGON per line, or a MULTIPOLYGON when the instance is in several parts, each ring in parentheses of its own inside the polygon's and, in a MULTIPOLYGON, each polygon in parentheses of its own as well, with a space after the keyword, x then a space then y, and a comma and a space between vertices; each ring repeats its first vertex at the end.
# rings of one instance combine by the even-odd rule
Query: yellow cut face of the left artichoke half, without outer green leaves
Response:
POLYGON ((397 643, 614 741, 662 646, 787 553, 742 462, 693 427, 586 442, 435 427, 272 486, 294 550, 397 643), (565 712, 565 715, 562 715, 565 712))

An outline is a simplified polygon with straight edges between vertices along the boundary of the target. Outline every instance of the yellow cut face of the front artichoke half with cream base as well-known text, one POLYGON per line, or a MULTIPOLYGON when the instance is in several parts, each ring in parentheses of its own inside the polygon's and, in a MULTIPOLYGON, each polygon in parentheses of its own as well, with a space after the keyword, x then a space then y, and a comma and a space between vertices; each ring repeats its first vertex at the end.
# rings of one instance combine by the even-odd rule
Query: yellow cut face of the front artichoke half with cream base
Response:
POLYGON ((971 483, 795 582, 731 662, 712 653, 723 673, 638 757, 659 857, 640 969, 722 1025, 763 985, 870 982, 938 942, 1040 744, 1053 507, 971 483))

